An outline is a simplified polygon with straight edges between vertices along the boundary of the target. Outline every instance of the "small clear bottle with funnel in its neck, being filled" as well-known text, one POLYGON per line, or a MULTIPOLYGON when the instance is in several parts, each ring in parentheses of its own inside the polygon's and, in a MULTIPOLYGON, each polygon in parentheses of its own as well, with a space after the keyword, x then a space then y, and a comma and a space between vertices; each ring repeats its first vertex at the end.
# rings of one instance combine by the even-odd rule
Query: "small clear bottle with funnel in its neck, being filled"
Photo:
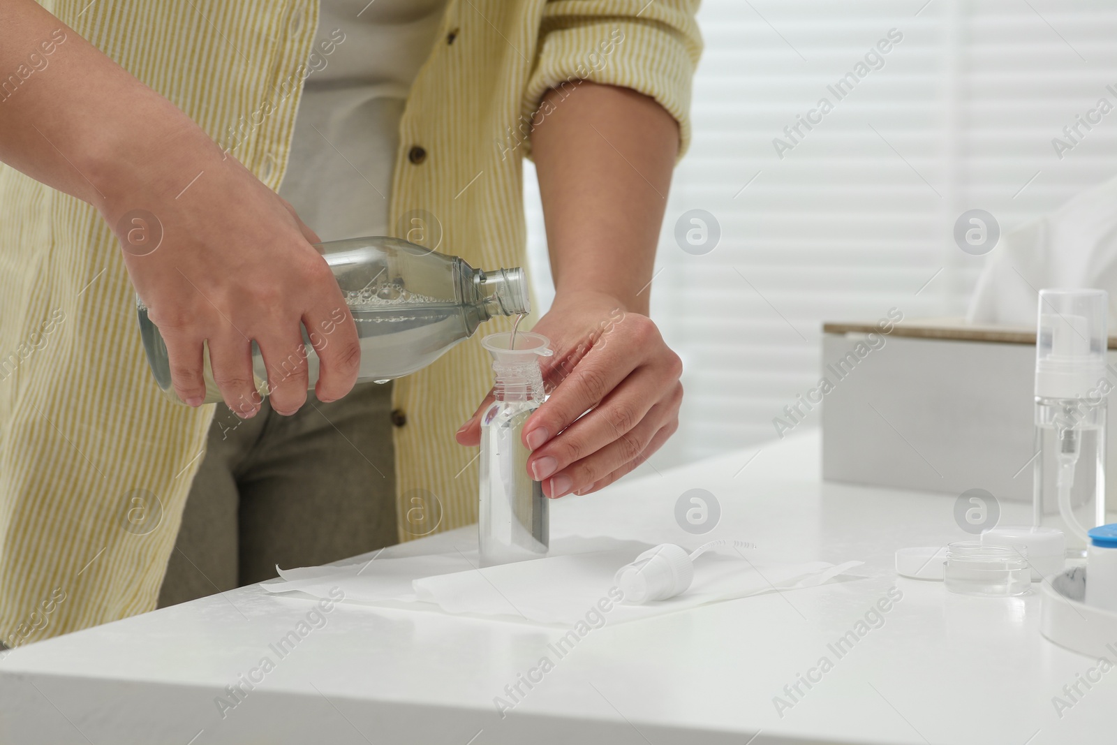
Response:
POLYGON ((524 422, 543 403, 538 360, 553 352, 545 336, 522 332, 515 341, 510 337, 491 334, 481 340, 496 374, 496 401, 481 416, 481 566, 540 558, 550 539, 547 498, 543 485, 527 475, 529 451, 522 434, 524 422))

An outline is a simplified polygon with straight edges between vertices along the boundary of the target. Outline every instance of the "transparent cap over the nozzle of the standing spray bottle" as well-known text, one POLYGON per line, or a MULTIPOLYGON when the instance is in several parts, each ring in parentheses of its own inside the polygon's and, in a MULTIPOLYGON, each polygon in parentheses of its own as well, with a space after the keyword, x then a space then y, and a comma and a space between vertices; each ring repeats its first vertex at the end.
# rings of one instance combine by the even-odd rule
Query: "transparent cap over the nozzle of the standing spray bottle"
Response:
POLYGON ((1079 399, 1106 374, 1109 299, 1102 289, 1041 289, 1035 333, 1035 395, 1079 399))

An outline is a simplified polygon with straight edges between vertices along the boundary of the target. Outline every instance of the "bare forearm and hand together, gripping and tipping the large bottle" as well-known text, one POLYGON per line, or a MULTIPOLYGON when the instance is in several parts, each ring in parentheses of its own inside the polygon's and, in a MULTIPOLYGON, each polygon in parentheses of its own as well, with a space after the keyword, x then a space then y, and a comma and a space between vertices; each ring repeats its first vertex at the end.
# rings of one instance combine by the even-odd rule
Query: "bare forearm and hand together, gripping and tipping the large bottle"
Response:
POLYGON ((0 69, 29 55, 42 70, 0 105, 0 161, 108 221, 166 342, 179 398, 201 402, 206 344, 226 403, 254 416, 255 341, 273 408, 294 413, 307 389, 300 324, 321 360, 317 398, 345 395, 360 366, 356 327, 311 246, 317 238, 290 206, 40 4, 2 0, 0 69))

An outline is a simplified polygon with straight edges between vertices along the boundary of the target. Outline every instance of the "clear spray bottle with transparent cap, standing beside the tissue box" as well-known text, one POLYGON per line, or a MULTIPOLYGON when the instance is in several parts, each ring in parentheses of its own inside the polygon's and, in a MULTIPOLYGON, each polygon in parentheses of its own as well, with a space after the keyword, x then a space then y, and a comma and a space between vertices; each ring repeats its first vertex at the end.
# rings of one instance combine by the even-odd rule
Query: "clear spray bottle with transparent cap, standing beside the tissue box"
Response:
POLYGON ((1040 292, 1033 522, 1062 531, 1069 557, 1105 524, 1107 317, 1104 290, 1040 292))

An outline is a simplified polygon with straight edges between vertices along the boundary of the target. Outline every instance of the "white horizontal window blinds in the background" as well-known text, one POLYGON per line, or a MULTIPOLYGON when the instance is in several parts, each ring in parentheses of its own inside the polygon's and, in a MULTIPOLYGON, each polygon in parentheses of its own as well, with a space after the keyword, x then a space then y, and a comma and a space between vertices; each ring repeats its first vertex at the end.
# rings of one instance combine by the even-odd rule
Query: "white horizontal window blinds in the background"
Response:
POLYGON ((987 210, 1003 231, 1117 174, 1117 112, 1061 159, 1052 146, 1099 98, 1117 106, 1117 3, 705 0, 699 22, 694 143, 652 285, 687 390, 660 469, 773 438, 772 419, 818 378, 824 321, 962 315, 985 260, 954 242, 962 212, 987 210), (890 29, 903 39, 838 99, 828 85, 890 29), (783 127, 822 97, 833 111, 792 142, 783 127), (782 159, 777 136, 793 145, 782 159), (693 209, 720 229, 705 255, 675 238, 693 209))

